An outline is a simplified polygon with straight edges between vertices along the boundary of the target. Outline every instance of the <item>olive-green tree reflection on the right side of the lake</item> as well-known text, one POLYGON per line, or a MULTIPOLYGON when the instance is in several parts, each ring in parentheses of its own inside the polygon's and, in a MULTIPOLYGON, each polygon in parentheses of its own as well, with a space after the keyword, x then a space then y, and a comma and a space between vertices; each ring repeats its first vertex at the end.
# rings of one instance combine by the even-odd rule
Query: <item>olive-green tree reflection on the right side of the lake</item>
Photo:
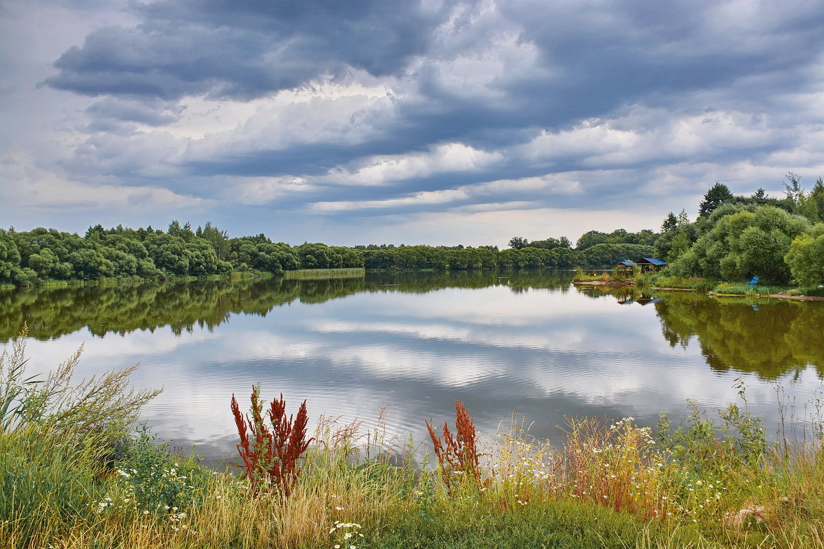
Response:
POLYGON ((812 365, 824 377, 821 304, 673 294, 655 308, 667 342, 686 347, 697 337, 713 370, 777 379, 812 365))

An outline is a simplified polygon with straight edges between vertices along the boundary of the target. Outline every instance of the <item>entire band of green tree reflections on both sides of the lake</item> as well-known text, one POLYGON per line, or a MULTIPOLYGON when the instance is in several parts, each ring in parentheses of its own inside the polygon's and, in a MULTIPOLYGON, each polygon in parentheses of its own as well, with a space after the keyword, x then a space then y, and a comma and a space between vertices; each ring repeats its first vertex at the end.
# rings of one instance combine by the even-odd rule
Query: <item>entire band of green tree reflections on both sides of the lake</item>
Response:
MULTIPOLYGON (((96 336, 170 327, 174 333, 212 328, 232 314, 265 316, 296 301, 324 303, 358 292, 426 293, 443 288, 506 286, 514 293, 536 289, 569 291, 572 272, 461 271, 367 273, 365 277, 304 280, 281 277, 216 281, 170 281, 104 286, 35 287, 0 291, 0 338, 8 342, 23 323, 30 337, 48 340, 82 328, 96 336)), ((812 365, 824 377, 818 303, 751 298, 714 298, 694 292, 659 295, 624 288, 577 291, 615 300, 616 307, 654 308, 670 346, 700 345, 714 370, 755 373, 778 379, 812 365), (625 305, 620 305, 624 303, 625 305)))

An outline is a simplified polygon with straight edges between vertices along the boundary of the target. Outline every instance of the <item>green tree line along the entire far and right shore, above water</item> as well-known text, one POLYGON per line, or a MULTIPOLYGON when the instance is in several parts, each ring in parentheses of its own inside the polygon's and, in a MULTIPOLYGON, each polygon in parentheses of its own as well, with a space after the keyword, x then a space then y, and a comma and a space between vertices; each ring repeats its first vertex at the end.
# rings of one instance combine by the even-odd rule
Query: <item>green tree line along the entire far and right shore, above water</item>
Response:
POLYGON ((763 189, 737 196, 717 183, 699 216, 670 212, 660 230, 590 230, 573 244, 516 236, 509 248, 322 243, 290 245, 264 234, 232 238, 207 222, 172 221, 166 230, 90 226, 85 235, 38 227, 0 229, 0 284, 35 286, 79 281, 271 274, 302 269, 460 270, 612 268, 625 259, 662 258, 676 277, 816 286, 824 281, 824 183, 805 192, 788 175, 785 198, 763 189))

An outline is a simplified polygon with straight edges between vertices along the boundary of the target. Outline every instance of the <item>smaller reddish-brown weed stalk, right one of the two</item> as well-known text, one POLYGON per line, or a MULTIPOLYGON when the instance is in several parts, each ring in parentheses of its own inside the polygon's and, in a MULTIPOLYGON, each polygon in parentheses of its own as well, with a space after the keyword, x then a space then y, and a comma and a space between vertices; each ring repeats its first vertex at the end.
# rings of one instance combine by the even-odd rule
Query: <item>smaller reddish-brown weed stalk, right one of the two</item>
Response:
POLYGON ((447 488, 452 488, 452 474, 462 473, 466 478, 471 478, 474 482, 480 482, 480 456, 478 454, 477 433, 475 424, 469 412, 466 412, 463 402, 455 401, 455 430, 456 436, 452 436, 449 426, 443 424, 443 441, 435 434, 435 430, 429 422, 426 428, 432 438, 435 447, 435 455, 438 456, 438 463, 441 466, 441 475, 447 488))

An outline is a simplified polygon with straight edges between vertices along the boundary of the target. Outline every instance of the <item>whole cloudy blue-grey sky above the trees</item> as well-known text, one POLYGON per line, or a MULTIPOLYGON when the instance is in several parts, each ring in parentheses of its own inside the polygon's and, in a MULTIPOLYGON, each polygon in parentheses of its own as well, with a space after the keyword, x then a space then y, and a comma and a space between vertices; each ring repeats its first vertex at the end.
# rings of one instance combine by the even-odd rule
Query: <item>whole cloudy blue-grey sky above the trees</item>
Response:
POLYGON ((0 0, 0 226, 576 240, 824 176, 824 8, 0 0))

